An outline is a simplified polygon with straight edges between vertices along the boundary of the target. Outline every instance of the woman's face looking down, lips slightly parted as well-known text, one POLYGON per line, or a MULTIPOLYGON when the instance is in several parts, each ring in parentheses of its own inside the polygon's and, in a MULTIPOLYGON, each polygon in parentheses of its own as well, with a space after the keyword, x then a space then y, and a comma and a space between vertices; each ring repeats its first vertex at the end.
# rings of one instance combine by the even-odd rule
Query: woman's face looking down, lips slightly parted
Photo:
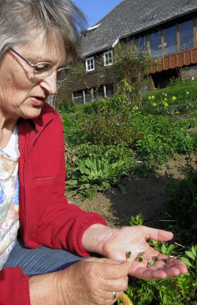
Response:
MULTIPOLYGON (((13 48, 33 65, 48 62, 57 69, 67 64, 65 46, 58 35, 53 35, 51 44, 40 34, 29 43, 13 48)), ((45 79, 37 79, 29 64, 11 50, 6 52, 0 62, 0 120, 35 118, 48 95, 55 93, 56 71, 45 79)))

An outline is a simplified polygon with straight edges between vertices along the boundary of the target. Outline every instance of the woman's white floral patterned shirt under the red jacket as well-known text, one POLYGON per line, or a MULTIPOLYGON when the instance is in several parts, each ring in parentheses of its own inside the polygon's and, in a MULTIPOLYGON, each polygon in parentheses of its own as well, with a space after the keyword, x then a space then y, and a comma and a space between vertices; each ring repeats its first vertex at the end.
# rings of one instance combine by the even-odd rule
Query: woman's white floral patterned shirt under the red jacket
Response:
POLYGON ((18 125, 7 146, 0 149, 0 270, 15 245, 18 218, 18 125))

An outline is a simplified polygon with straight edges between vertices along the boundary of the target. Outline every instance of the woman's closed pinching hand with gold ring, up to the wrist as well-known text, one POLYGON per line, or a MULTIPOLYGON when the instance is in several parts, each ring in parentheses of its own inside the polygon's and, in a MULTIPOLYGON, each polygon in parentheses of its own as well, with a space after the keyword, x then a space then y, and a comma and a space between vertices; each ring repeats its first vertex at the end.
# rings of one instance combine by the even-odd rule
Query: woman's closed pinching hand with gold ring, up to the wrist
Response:
POLYGON ((77 262, 58 274, 63 304, 110 305, 127 288, 128 272, 129 262, 117 263, 107 258, 77 262))

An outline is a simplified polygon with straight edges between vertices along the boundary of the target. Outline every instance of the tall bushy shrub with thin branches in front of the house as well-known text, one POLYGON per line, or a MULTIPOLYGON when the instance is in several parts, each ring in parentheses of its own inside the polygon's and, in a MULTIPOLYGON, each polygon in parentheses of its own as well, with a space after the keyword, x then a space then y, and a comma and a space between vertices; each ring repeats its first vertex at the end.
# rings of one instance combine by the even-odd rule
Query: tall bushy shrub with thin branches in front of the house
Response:
POLYGON ((152 58, 150 51, 134 46, 133 42, 120 42, 114 53, 113 63, 100 70, 102 73, 104 72, 103 77, 108 81, 113 79, 117 83, 127 79, 132 87, 132 100, 142 107, 142 88, 147 84, 145 77, 151 72, 151 68, 160 62, 161 58, 152 58))

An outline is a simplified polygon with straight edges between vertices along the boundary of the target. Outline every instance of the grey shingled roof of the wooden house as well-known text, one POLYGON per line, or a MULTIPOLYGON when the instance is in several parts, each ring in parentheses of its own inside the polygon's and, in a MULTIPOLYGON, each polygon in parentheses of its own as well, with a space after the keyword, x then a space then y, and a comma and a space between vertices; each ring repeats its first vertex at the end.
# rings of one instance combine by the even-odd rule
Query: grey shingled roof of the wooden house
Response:
POLYGON ((124 0, 87 30, 87 37, 82 38, 82 56, 107 50, 121 38, 193 11, 197 11, 197 0, 124 0))

